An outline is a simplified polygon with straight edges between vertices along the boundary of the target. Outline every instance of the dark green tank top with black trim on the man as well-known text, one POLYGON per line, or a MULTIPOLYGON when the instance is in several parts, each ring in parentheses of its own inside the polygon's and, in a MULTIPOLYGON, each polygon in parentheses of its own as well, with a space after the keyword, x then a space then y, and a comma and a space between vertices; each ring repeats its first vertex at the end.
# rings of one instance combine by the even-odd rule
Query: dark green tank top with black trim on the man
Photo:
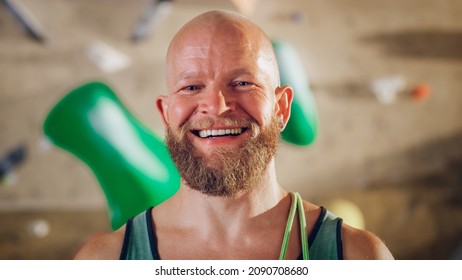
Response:
MULTIPOLYGON (((343 259, 341 228, 342 219, 321 207, 321 213, 308 237, 309 258, 343 259)), ((152 223, 152 207, 127 221, 120 259, 160 260, 152 223)), ((300 255, 298 259, 303 259, 303 256, 300 255)))

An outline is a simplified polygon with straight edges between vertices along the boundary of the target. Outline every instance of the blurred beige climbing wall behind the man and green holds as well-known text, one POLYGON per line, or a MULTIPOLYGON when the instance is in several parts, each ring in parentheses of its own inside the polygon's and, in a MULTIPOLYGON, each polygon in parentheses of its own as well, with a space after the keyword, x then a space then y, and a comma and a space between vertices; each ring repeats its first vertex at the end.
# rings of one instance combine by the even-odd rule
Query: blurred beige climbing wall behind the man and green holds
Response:
POLYGON ((0 156, 5 167, 19 149, 22 161, 2 174, 0 259, 69 259, 111 230, 93 173, 46 141, 44 118, 69 90, 100 80, 162 136, 154 100, 166 48, 211 9, 247 15, 306 69, 319 135, 308 147, 281 144, 283 186, 375 232, 398 259, 462 258, 462 1, 177 0, 136 41, 155 1, 2 2, 0 156), (122 63, 102 65, 109 51, 122 63))

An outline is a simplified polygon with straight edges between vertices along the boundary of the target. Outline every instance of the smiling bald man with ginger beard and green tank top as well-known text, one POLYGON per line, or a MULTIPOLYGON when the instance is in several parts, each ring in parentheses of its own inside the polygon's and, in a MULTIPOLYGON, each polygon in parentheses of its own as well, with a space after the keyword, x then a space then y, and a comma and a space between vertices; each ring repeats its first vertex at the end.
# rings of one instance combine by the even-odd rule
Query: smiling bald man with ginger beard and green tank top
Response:
POLYGON ((279 185, 293 92, 258 26, 225 11, 194 18, 169 46, 166 78, 156 105, 180 190, 77 259, 392 259, 374 234, 279 185))

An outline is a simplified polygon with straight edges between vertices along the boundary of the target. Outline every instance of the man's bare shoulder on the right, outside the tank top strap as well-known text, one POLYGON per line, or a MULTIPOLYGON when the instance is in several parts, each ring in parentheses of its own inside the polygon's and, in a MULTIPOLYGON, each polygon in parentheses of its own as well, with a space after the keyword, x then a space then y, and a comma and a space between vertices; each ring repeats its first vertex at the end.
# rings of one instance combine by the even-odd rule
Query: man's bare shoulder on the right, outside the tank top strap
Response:
POLYGON ((393 255, 375 234, 342 226, 343 256, 347 260, 392 260, 393 255))

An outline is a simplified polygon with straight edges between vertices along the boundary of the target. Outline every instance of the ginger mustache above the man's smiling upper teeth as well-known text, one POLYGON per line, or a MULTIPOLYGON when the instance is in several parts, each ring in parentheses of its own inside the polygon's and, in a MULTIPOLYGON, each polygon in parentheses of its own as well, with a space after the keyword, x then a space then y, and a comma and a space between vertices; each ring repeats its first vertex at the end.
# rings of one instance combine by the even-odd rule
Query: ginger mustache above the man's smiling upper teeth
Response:
POLYGON ((244 118, 236 119, 236 118, 228 118, 228 117, 222 117, 222 118, 205 117, 200 120, 186 121, 185 123, 183 123, 183 125, 179 129, 179 136, 180 136, 180 139, 183 139, 186 133, 191 130, 207 129, 207 128, 218 126, 218 125, 249 128, 251 129, 252 135, 254 136, 256 136, 256 134, 258 134, 259 132, 258 123, 255 120, 248 120, 244 118))

